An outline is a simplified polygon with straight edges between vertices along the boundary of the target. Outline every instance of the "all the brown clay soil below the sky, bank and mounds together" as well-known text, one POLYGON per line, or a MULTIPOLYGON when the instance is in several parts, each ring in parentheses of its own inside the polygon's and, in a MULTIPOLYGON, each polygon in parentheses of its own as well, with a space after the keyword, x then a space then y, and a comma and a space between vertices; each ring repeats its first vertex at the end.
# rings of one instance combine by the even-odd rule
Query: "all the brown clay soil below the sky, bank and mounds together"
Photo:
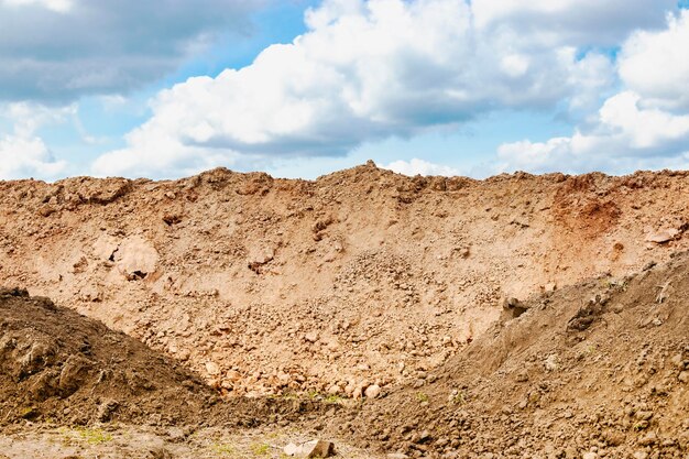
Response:
POLYGON ((688 185, 0 183, 0 446, 686 459, 688 185))

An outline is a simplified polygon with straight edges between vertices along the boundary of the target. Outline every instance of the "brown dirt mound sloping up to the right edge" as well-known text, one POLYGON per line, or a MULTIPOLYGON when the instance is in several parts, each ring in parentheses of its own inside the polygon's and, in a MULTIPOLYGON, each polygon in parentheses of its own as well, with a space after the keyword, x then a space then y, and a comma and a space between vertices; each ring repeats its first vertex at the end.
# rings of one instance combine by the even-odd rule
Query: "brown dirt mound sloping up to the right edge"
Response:
POLYGON ((503 320, 442 368, 329 428, 409 457, 683 459, 687 330, 681 254, 506 302, 503 320))

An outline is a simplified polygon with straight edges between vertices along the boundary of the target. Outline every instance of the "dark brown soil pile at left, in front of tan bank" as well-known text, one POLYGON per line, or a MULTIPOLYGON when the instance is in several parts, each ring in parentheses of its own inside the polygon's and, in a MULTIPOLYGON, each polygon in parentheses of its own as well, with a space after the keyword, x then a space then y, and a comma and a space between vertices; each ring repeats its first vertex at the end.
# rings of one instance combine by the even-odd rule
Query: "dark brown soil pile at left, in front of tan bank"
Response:
POLYGON ((0 425, 255 426, 315 404, 236 398, 142 342, 19 288, 0 289, 0 425))

